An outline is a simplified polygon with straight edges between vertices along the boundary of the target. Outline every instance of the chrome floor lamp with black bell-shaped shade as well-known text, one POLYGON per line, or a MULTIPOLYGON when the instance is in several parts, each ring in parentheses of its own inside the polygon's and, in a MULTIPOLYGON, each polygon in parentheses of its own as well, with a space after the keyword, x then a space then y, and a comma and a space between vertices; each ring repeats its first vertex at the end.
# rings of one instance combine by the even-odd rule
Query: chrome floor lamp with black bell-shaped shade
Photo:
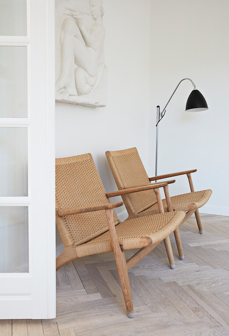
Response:
MULTIPOLYGON (((177 87, 173 91, 171 97, 169 98, 169 100, 168 100, 168 102, 167 102, 167 104, 164 107, 162 112, 160 112, 160 106, 159 105, 157 106, 155 176, 157 176, 157 168, 158 168, 158 124, 162 120, 162 118, 164 117, 165 111, 166 111, 165 109, 166 109, 168 103, 170 102, 172 96, 174 95, 176 89, 178 88, 180 83, 182 81, 184 81, 185 79, 188 79, 192 83, 192 85, 194 86, 194 89, 192 90, 192 92, 188 96, 185 111, 187 111, 187 112, 201 112, 201 111, 208 110, 208 104, 207 104, 207 101, 205 100, 205 97, 203 96, 203 94, 201 92, 199 92, 199 90, 196 89, 196 85, 193 83, 193 81, 190 78, 181 79, 181 81, 178 83, 177 87)), ((157 181, 155 181, 155 182, 157 182, 157 181)))

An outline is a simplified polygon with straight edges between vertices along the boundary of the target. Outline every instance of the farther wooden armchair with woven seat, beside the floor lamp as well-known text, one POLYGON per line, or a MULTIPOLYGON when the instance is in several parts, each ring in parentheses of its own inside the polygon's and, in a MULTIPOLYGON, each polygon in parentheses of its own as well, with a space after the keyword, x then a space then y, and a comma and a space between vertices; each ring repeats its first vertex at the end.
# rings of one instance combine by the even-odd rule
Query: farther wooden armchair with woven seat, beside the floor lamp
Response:
MULTIPOLYGON (((170 177, 186 174, 188 177, 191 193, 173 196, 169 199, 168 191, 165 190, 165 196, 167 196, 162 200, 162 205, 165 212, 173 210, 185 211, 186 215, 182 223, 184 223, 194 212, 199 233, 203 234, 198 208, 201 208, 207 203, 212 194, 212 191, 194 191, 191 173, 196 172, 197 169, 149 178, 135 147, 122 151, 108 151, 106 152, 106 156, 119 190, 123 190, 134 185, 149 185, 152 184, 151 181, 164 178, 167 179, 170 177)), ((174 183, 175 180, 166 182, 174 183)), ((149 214, 156 214, 160 212, 160 205, 157 202, 156 195, 153 190, 137 193, 134 195, 125 195, 122 196, 122 199, 129 214, 128 218, 148 216, 149 214)))

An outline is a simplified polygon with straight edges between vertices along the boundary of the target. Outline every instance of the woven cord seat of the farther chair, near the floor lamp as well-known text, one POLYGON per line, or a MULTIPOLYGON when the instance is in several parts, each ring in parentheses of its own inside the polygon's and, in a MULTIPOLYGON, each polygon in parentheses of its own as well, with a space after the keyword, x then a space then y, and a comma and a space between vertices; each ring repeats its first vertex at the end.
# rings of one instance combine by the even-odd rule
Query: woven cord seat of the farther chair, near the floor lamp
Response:
MULTIPOLYGON (((189 203, 195 203, 197 208, 203 207, 205 205, 210 196, 212 195, 212 191, 210 189, 208 190, 202 190, 202 191, 195 191, 193 193, 187 193, 177 196, 171 197, 171 203, 173 210, 183 210, 188 211, 188 204, 189 203)), ((166 199, 162 200, 162 204, 164 207, 164 210, 167 211, 167 203, 166 199)), ((150 212, 151 215, 159 213, 158 204, 154 204, 145 211, 142 211, 139 216, 142 214, 146 214, 146 212, 150 212)))

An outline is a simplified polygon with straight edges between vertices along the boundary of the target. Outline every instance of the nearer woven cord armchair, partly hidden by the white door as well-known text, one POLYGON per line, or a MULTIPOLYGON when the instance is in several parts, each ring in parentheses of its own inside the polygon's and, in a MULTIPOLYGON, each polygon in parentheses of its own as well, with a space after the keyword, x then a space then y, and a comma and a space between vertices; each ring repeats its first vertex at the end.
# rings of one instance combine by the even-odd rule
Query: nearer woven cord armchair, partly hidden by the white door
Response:
POLYGON ((129 318, 133 304, 127 270, 165 242, 170 264, 174 263, 169 235, 184 219, 183 211, 163 213, 160 186, 148 185, 110 193, 124 195, 155 188, 162 213, 120 222, 113 211, 123 202, 111 203, 91 154, 56 159, 56 223, 64 252, 56 259, 56 269, 75 258, 114 251, 129 318), (126 261, 124 250, 140 248, 126 261))

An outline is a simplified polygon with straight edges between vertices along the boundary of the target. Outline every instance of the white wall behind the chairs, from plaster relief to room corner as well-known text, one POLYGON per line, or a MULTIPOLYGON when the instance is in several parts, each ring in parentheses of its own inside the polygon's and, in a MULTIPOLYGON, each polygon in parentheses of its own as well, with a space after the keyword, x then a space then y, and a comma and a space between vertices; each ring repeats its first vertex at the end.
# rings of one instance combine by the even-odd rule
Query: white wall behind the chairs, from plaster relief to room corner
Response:
MULTIPOLYGON (((109 192, 117 186, 105 156, 107 150, 137 146, 148 165, 149 0, 103 3, 107 106, 56 103, 56 157, 92 153, 109 192)), ((124 206, 116 212, 123 211, 124 206)), ((126 217, 125 211, 120 219, 126 217)), ((60 245, 57 234, 57 247, 60 245)))

